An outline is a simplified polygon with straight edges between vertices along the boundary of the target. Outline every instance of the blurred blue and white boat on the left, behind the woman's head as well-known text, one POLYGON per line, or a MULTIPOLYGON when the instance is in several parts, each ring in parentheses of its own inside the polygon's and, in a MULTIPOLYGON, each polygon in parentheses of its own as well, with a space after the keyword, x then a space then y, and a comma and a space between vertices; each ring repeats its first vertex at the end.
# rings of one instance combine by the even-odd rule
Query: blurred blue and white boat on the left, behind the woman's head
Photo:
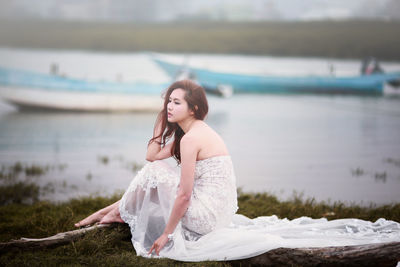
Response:
POLYGON ((20 109, 158 111, 168 84, 93 82, 0 67, 0 97, 20 109))

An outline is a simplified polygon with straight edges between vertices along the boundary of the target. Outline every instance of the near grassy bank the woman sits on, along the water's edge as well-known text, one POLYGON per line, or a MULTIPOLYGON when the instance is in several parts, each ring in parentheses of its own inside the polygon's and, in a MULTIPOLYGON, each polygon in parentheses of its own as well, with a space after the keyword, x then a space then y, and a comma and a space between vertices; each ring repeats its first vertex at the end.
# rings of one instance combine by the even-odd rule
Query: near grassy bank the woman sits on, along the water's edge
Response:
MULTIPOLYGON (((20 237, 45 237, 74 229, 73 223, 90 213, 118 200, 113 197, 91 197, 53 204, 35 202, 0 206, 0 242, 20 237)), ((361 218, 375 221, 380 217, 400 221, 400 204, 359 207, 340 202, 324 203, 293 196, 279 201, 276 196, 239 194, 239 212, 249 217, 276 214, 293 219, 300 216, 313 218, 361 218)), ((53 249, 40 251, 9 251, 0 255, 1 266, 230 266, 223 262, 181 263, 173 260, 149 260, 137 257, 130 242, 126 225, 113 229, 97 230, 83 239, 53 249)))

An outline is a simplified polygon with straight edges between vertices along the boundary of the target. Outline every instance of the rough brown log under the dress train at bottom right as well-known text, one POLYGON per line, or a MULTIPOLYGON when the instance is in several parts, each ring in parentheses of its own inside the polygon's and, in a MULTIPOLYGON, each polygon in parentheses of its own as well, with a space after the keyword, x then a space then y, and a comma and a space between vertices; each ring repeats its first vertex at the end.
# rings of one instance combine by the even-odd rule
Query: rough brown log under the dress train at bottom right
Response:
POLYGON ((400 242, 319 248, 278 248, 233 266, 396 266, 400 242))

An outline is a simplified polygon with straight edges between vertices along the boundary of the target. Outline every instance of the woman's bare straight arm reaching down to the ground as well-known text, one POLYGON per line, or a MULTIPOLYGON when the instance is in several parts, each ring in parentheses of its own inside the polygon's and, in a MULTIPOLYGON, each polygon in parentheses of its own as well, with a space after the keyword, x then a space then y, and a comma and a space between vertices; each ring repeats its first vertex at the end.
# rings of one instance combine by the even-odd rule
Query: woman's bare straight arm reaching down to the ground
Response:
POLYGON ((164 229, 163 234, 153 243, 149 254, 155 250, 159 255, 160 250, 168 242, 168 235, 171 234, 178 225, 180 219, 190 204, 190 198, 194 183, 194 170, 196 167, 198 148, 195 140, 189 136, 181 139, 181 180, 179 183, 178 193, 172 208, 169 220, 164 229))

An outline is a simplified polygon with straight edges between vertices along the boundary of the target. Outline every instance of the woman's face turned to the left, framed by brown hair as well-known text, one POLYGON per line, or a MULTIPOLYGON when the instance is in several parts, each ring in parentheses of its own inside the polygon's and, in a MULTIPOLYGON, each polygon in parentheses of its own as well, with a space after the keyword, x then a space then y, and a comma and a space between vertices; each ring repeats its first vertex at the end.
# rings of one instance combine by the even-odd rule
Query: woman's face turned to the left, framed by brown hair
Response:
POLYGON ((167 104, 168 122, 179 123, 190 116, 193 116, 193 111, 189 109, 188 103, 185 100, 185 91, 178 88, 172 91, 167 104))

